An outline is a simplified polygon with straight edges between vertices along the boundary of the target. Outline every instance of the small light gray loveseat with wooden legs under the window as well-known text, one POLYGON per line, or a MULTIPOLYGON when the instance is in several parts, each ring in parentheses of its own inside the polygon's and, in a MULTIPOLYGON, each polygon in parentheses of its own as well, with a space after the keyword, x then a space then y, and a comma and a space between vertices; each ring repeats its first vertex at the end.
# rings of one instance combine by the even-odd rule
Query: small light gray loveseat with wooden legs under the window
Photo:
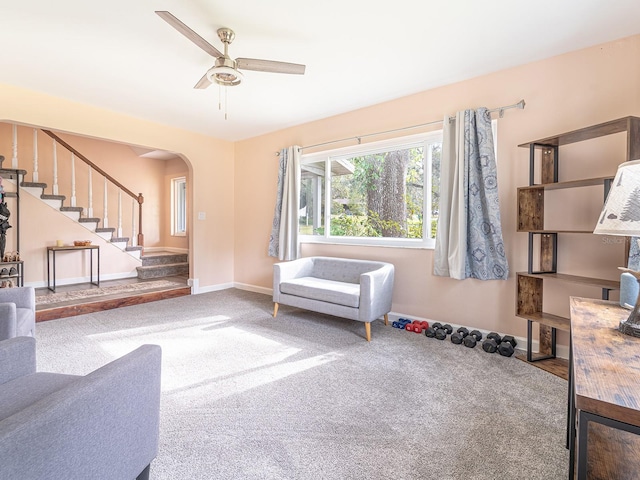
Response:
POLYGON ((273 316, 278 305, 364 322, 371 341, 371 322, 391 311, 394 267, 390 263, 333 257, 307 257, 273 266, 273 316))

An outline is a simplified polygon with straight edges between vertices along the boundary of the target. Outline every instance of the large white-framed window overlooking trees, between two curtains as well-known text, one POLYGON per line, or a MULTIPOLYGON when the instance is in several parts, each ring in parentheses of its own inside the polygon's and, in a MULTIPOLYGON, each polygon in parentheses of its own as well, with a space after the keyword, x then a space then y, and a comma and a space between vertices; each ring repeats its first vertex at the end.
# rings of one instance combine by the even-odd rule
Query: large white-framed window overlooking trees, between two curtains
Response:
POLYGON ((302 241, 433 247, 442 131, 303 155, 302 241))

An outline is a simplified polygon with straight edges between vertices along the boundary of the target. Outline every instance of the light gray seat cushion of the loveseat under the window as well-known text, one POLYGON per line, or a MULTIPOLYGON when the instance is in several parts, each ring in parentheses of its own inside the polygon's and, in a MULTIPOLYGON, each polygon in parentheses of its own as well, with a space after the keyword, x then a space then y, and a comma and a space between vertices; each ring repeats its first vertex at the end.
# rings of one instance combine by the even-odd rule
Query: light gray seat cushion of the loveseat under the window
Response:
POLYGON ((282 282, 280 292, 353 308, 360 305, 360 285, 357 283, 300 277, 282 282))

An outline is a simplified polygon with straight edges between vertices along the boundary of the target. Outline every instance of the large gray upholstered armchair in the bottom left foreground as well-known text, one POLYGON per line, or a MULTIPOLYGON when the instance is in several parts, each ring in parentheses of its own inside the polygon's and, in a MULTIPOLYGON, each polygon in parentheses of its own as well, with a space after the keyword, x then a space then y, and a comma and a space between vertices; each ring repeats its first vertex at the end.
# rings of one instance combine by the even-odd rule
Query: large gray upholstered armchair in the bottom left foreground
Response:
POLYGON ((0 342, 0 478, 139 480, 158 452, 161 350, 85 376, 36 372, 36 341, 0 342))

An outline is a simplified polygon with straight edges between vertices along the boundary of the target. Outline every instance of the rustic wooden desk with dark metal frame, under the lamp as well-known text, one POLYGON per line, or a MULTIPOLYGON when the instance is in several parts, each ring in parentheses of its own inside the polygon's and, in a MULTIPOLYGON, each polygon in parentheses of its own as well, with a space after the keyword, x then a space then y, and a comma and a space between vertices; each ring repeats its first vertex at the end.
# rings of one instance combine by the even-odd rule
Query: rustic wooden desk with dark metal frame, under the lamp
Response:
POLYGON ((640 339, 617 330, 629 312, 571 298, 570 479, 640 477, 640 339))

